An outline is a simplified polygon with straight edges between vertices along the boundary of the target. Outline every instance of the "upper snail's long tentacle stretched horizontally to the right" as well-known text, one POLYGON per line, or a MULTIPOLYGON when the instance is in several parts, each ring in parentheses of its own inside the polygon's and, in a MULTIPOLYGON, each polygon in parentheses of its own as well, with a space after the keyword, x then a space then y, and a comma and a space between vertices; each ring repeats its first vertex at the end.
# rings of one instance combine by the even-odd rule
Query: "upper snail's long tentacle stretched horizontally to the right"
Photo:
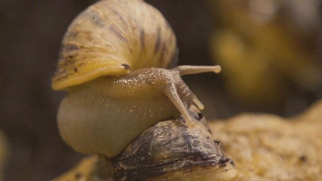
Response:
POLYGON ((181 76, 181 75, 197 74, 197 73, 203 73, 203 72, 220 73, 222 68, 219 65, 215 65, 215 66, 180 65, 173 68, 173 70, 179 71, 179 74, 181 76))

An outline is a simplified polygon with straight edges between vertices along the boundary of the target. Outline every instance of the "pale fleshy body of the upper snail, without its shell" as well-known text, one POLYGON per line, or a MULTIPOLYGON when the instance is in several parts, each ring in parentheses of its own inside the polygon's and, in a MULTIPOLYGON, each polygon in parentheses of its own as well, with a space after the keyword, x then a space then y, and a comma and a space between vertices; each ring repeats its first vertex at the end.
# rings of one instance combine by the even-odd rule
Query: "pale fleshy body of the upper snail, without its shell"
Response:
POLYGON ((191 120, 193 93, 179 75, 185 67, 195 66, 145 68, 70 88, 58 111, 64 141, 80 152, 115 156, 158 121, 180 114, 191 120))

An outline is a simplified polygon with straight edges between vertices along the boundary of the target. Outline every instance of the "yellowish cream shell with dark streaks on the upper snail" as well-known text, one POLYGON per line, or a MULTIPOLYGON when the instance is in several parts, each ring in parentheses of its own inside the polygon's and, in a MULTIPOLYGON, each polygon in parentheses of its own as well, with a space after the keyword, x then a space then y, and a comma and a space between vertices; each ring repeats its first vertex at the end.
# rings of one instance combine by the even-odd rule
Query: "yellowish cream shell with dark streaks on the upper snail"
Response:
POLYGON ((173 30, 157 9, 143 0, 101 0, 78 15, 65 33, 52 87, 166 68, 176 54, 173 30))

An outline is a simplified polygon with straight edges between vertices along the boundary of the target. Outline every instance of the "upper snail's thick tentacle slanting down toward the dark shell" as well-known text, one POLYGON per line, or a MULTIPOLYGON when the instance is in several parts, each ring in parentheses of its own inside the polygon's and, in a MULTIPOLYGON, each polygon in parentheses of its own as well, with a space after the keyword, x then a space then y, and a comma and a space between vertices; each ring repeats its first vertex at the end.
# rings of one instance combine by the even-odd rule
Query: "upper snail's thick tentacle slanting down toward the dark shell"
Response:
POLYGON ((179 110, 183 118, 187 121, 187 124, 189 126, 193 126, 194 122, 190 117, 186 106, 182 102, 175 84, 170 83, 169 85, 167 85, 164 89, 164 94, 170 99, 173 105, 179 110))

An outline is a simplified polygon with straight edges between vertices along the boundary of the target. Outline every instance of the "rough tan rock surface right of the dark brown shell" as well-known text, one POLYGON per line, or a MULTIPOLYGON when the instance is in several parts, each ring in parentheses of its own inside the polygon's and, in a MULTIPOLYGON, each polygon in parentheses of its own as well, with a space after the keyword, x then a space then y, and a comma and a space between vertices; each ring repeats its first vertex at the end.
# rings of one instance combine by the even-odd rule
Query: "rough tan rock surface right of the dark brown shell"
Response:
POLYGON ((322 181, 322 101, 291 119, 241 114, 210 128, 240 181, 322 181))

